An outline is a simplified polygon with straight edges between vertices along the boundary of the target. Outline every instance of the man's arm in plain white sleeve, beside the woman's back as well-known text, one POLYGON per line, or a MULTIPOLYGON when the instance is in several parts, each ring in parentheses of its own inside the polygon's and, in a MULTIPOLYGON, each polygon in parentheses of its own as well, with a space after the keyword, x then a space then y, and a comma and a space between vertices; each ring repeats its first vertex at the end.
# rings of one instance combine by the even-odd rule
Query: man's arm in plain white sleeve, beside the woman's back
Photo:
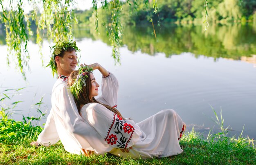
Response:
POLYGON ((94 149, 95 154, 103 154, 110 152, 110 147, 104 139, 101 138, 98 132, 85 123, 83 118, 79 115, 74 97, 67 86, 61 87, 56 92, 56 110, 54 117, 59 118, 67 134, 81 147, 81 149, 90 150, 94 149))

